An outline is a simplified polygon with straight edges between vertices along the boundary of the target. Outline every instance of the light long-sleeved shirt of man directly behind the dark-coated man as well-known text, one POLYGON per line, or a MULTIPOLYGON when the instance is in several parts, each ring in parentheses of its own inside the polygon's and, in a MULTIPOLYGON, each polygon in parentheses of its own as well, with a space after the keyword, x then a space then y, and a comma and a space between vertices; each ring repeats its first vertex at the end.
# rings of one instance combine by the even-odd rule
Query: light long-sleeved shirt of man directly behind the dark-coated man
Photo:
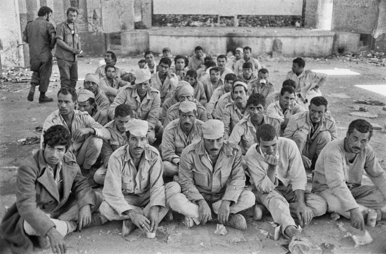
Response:
POLYGON ((66 122, 64 121, 62 115, 59 113, 59 110, 51 113, 43 123, 43 131, 40 138, 40 147, 43 147, 43 133, 48 130, 53 125, 62 125, 67 128, 67 130, 71 133, 71 141, 72 147, 74 148, 74 152, 76 152, 83 144, 83 142, 90 135, 83 135, 80 139, 74 140, 74 132, 77 129, 82 128, 93 128, 95 131, 94 136, 101 139, 110 139, 110 132, 103 128, 103 126, 97 123, 87 112, 81 112, 79 110, 74 110, 73 112, 74 118, 71 123, 71 131, 68 128, 66 122))

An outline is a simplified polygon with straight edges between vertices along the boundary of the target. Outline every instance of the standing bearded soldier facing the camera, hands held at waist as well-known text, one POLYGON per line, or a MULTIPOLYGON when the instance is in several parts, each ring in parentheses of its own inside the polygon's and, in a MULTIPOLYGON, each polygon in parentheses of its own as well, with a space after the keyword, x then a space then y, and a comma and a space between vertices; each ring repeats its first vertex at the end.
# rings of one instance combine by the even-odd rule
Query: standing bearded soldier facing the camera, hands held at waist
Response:
POLYGON ((78 81, 78 55, 80 50, 80 38, 75 24, 78 10, 74 7, 67 9, 67 21, 60 23, 56 28, 55 56, 58 59, 60 73, 60 86, 70 86, 75 89, 78 81))

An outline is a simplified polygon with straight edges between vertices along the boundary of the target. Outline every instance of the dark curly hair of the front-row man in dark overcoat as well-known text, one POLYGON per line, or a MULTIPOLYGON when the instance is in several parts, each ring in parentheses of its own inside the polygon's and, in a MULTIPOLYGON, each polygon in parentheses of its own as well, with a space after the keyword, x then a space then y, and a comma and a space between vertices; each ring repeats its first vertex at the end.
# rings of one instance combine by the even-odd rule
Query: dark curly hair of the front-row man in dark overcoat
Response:
POLYGON ((66 151, 71 145, 71 134, 63 125, 53 125, 43 133, 44 148, 47 145, 55 147, 57 145, 66 146, 66 151))

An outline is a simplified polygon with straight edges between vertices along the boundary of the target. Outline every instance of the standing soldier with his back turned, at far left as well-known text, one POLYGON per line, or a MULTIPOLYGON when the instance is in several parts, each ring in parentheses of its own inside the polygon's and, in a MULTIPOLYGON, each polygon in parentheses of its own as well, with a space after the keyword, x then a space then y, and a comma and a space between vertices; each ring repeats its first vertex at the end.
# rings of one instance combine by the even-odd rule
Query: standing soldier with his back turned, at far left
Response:
POLYGON ((23 41, 30 48, 30 68, 34 73, 31 78, 31 90, 27 99, 34 100, 35 87, 39 86, 39 103, 51 102, 54 99, 46 96, 52 73, 51 50, 55 46, 55 28, 49 22, 52 10, 47 6, 40 8, 38 18, 27 23, 23 32, 23 41))

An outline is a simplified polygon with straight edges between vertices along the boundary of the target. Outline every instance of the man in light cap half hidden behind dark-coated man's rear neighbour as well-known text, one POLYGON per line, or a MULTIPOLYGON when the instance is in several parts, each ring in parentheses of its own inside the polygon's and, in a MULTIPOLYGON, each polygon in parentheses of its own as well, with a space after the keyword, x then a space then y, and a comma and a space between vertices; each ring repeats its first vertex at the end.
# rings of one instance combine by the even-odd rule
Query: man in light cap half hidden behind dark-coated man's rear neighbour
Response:
POLYGON ((105 125, 108 122, 107 114, 101 114, 99 106, 95 103, 94 94, 86 89, 79 90, 78 92, 78 110, 80 112, 87 112, 95 122, 105 125))

